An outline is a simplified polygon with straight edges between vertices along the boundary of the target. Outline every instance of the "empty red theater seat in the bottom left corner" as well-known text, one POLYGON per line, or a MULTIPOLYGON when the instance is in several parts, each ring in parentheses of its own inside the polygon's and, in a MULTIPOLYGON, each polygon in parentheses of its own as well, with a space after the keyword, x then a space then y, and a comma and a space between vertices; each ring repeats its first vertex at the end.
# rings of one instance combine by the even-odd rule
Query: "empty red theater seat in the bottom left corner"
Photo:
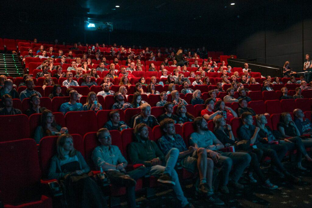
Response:
POLYGON ((52 199, 41 195, 38 150, 33 139, 0 143, 0 158, 4 207, 52 207, 52 199))

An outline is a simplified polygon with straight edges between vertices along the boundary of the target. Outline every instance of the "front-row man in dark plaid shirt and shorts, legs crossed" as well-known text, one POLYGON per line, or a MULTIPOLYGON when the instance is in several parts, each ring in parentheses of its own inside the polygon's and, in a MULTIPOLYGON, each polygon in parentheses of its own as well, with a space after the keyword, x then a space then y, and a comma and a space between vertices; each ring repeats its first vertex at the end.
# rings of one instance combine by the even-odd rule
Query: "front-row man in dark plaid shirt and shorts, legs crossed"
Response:
MULTIPOLYGON (((214 205, 224 205, 217 195, 214 195, 212 187, 213 177, 213 160, 207 158, 207 151, 204 148, 194 148, 190 146, 186 148, 183 138, 176 134, 174 121, 172 119, 164 119, 160 122, 160 128, 163 136, 158 139, 158 146, 164 155, 167 155, 172 148, 179 150, 177 161, 178 167, 183 167, 190 172, 199 171, 200 183, 196 190, 200 194, 205 194, 208 202, 214 205)), ((209 156, 217 160, 219 157, 216 152, 209 151, 209 156)))

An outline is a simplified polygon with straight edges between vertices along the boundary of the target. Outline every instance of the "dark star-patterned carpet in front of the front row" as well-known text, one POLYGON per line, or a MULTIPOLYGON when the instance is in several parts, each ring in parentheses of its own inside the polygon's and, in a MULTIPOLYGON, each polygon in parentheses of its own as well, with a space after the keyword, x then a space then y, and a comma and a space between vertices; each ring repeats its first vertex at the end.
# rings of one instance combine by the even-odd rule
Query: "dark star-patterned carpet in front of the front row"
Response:
MULTIPOLYGON (((246 185, 243 190, 235 190, 229 186, 230 194, 218 193, 220 199, 226 203, 220 207, 312 207, 312 164, 303 161, 303 166, 307 167, 306 171, 298 171, 293 162, 284 162, 283 164, 289 172, 302 179, 300 184, 293 185, 273 175, 270 177, 270 181, 279 188, 272 191, 263 188, 259 183, 248 184, 242 177, 239 182, 246 185)), ((262 169, 265 175, 269 176, 267 167, 264 165, 262 169)), ((255 174, 254 177, 256 178, 255 174)), ((188 201, 195 207, 218 207, 209 204, 204 199, 198 199, 192 185, 184 186, 183 190, 188 201)), ((174 192, 167 187, 159 187, 156 193, 157 196, 151 200, 138 196, 137 207, 180 207, 174 192)), ((127 206, 123 203, 122 207, 127 206)))

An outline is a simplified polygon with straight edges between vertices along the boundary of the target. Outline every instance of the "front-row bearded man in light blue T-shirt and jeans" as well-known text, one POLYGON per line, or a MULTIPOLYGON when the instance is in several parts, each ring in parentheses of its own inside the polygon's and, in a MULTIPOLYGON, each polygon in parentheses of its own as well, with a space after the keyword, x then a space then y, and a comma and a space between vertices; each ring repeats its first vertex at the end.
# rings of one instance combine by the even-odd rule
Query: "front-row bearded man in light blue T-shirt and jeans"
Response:
MULTIPOLYGON (((194 119, 194 133, 190 136, 190 144, 195 148, 205 148, 207 153, 211 151, 218 151, 224 148, 224 145, 217 139, 217 137, 208 130, 207 121, 202 117, 194 119)), ((224 193, 229 193, 227 183, 230 182, 232 186, 238 189, 243 189, 244 186, 238 183, 245 168, 249 165, 251 157, 245 152, 221 152, 218 160, 215 163, 222 164, 222 187, 224 193), (229 181, 229 174, 233 166, 231 174, 232 180, 229 181)))

